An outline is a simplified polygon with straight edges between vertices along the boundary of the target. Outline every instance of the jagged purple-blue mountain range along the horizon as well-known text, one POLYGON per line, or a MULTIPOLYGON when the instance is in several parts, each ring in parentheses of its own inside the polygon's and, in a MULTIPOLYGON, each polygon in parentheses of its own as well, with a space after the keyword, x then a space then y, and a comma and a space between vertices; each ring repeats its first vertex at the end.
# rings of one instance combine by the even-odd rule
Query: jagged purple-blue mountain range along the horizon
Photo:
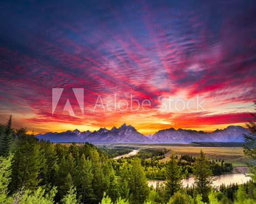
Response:
POLYGON ((62 133, 38 134, 38 139, 50 140, 51 142, 243 142, 243 134, 249 131, 242 126, 227 126, 223 130, 211 133, 195 130, 174 128, 164 129, 155 134, 143 135, 132 125, 122 124, 120 127, 112 127, 111 130, 101 127, 98 131, 79 130, 62 133))

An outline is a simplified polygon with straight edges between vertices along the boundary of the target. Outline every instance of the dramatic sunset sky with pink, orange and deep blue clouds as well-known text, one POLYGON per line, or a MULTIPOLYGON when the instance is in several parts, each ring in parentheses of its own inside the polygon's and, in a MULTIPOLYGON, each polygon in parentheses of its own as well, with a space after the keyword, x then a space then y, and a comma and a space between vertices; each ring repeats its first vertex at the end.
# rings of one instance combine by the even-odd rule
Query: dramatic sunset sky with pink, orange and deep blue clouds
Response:
POLYGON ((35 133, 245 126, 256 98, 255 10, 236 0, 5 1, 0 123, 11 114, 35 133), (62 90, 54 111, 53 90, 62 90))

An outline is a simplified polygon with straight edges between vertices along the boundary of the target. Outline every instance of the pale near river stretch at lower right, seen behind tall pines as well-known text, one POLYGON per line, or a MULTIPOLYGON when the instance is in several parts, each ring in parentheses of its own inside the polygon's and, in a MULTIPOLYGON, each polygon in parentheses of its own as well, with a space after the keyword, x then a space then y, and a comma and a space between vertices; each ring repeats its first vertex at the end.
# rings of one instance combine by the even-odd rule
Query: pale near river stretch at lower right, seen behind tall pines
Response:
MULTIPOLYGON (((231 184, 231 183, 238 183, 238 184, 243 184, 247 181, 249 181, 250 177, 245 176, 243 173, 230 173, 230 174, 222 174, 222 175, 215 175, 213 176, 214 179, 217 179, 214 181, 214 186, 218 187, 221 184, 231 184)), ((153 185, 154 188, 156 188, 157 182, 163 183, 164 181, 147 181, 148 186, 153 185)), ((183 179, 183 187, 191 186, 194 183, 194 177, 190 177, 188 179, 183 179)))

